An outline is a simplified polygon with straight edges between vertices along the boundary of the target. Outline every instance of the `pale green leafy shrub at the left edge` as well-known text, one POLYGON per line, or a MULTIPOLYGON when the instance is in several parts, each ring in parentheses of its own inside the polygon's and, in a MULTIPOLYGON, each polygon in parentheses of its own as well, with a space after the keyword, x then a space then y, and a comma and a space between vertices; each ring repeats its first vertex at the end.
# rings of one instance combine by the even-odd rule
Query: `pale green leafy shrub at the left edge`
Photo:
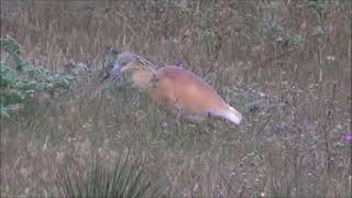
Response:
POLYGON ((33 66, 20 56, 20 45, 10 36, 1 38, 1 51, 7 52, 13 61, 0 63, 1 118, 9 118, 11 112, 23 108, 24 101, 35 94, 55 96, 69 89, 77 77, 77 70, 81 69, 75 67, 74 72, 55 74, 33 66))

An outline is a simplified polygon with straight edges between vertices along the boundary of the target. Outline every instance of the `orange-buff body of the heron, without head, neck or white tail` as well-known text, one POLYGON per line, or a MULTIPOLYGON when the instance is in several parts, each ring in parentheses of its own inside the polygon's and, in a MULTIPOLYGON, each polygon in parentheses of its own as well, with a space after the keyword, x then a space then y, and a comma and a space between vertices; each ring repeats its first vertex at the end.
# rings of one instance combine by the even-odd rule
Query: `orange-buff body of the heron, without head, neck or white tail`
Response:
POLYGON ((161 106, 193 121, 228 108, 221 97, 189 70, 167 66, 156 72, 157 85, 148 92, 161 106))

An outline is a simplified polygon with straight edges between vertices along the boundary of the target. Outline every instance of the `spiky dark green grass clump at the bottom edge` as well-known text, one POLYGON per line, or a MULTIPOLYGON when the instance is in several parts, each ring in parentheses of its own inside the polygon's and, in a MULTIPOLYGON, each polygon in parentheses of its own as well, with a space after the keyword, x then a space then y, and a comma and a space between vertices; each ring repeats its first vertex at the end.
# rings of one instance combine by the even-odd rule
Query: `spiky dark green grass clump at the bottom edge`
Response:
POLYGON ((64 197, 158 197, 162 188, 145 173, 142 161, 129 164, 129 153, 120 157, 112 170, 96 158, 89 169, 77 172, 65 166, 64 179, 57 184, 64 197))

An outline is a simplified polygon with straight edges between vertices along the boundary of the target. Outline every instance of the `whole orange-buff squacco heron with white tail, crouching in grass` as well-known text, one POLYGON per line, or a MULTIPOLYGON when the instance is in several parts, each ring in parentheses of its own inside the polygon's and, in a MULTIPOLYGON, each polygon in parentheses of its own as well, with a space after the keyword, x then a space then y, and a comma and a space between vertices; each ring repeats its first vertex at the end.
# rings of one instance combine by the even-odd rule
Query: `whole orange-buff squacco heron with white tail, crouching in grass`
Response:
POLYGON ((241 113, 227 103, 205 80, 194 73, 177 66, 155 69, 145 58, 129 52, 116 61, 109 80, 122 73, 130 75, 132 86, 145 89, 157 105, 179 117, 199 123, 207 117, 219 117, 240 124, 241 113))

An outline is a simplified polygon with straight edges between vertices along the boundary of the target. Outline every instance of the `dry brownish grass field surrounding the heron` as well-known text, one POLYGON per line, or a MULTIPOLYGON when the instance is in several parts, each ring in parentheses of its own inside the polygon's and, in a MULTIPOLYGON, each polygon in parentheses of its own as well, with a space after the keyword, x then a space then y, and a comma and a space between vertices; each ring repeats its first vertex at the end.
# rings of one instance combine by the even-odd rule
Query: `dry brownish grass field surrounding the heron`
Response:
POLYGON ((113 166, 125 148, 169 197, 351 196, 349 1, 1 1, 4 35, 35 65, 92 75, 1 120, 1 197, 57 195, 65 164, 113 166), (129 89, 92 97, 109 46, 180 61, 244 122, 177 123, 129 89))

